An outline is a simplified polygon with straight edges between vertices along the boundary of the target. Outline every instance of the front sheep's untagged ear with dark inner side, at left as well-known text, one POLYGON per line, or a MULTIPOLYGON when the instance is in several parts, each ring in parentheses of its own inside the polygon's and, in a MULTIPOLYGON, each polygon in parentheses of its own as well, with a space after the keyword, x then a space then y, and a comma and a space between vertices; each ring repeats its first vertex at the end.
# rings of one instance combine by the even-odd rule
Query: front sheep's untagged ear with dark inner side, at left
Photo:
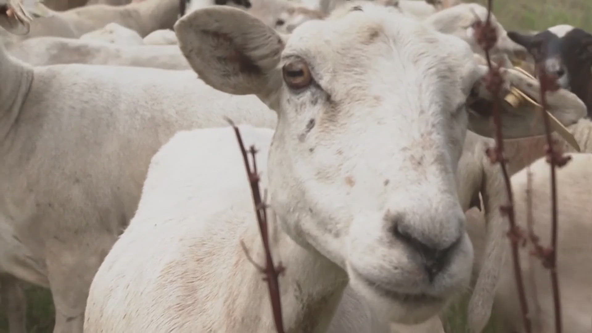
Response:
POLYGON ((206 84, 260 98, 281 87, 278 69, 284 40, 242 9, 198 9, 175 23, 179 48, 206 84))

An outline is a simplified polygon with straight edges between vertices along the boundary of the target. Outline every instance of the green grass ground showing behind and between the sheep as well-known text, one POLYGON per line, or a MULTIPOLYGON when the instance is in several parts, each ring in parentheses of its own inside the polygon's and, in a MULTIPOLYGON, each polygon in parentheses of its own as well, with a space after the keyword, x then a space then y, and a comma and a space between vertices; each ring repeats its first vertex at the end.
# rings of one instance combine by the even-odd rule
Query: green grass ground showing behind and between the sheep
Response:
MULTIPOLYGON (((485 0, 479 0, 485 4, 485 0)), ((571 24, 592 32, 592 0, 494 0, 494 14, 506 30, 543 30, 556 24, 571 24)), ((28 332, 50 333, 53 328, 53 305, 49 290, 28 286, 28 332)), ((449 310, 446 331, 464 333, 466 317, 462 310, 466 303, 449 310)), ((7 333, 4 313, 0 313, 0 333, 7 333)), ((492 320, 484 333, 498 333, 492 320)))

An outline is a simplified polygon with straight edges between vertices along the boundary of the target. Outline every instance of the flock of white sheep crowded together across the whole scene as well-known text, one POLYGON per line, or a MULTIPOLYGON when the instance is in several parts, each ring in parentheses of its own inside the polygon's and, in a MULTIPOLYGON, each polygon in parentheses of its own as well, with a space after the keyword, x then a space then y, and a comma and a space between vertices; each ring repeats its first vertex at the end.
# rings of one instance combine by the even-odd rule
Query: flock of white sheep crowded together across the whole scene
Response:
MULTIPOLYGON (((19 280, 48 287, 54 332, 274 332, 236 136, 255 145, 288 332, 437 333, 471 289, 523 332, 494 145, 487 10, 442 0, 0 0, 0 296, 25 332, 19 280), (48 8, 51 7, 52 9, 48 8), (59 11, 56 11, 59 10, 59 11)), ((548 111, 574 136, 558 169, 564 331, 592 332, 592 35, 506 32, 506 83, 543 55, 548 111)), ((517 223, 526 189, 549 239, 538 108, 501 110, 517 223)), ((523 262, 529 262, 524 251, 523 262)), ((536 332, 551 333, 538 262, 536 332)))

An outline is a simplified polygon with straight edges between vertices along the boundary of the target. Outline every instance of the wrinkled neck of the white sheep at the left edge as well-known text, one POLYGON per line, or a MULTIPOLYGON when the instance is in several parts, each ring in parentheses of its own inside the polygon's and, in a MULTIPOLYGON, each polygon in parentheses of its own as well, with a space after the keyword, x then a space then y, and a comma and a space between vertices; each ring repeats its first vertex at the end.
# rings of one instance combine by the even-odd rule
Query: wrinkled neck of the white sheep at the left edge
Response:
POLYGON ((18 119, 33 82, 33 68, 10 57, 0 44, 0 138, 5 139, 18 119))

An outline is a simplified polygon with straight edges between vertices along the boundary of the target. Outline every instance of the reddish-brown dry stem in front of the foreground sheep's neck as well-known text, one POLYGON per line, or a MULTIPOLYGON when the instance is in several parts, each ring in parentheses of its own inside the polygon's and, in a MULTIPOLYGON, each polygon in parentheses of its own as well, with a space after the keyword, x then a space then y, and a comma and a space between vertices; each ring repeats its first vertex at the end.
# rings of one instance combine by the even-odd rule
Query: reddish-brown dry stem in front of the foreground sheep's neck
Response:
POLYGON ((256 149, 254 146, 251 146, 249 149, 249 153, 252 156, 253 160, 253 168, 251 169, 249 165, 249 156, 247 154, 246 149, 244 148, 243 139, 240 136, 240 131, 238 127, 231 121, 227 119, 230 125, 234 129, 234 133, 236 134, 236 139, 239 142, 240 152, 243 155, 244 161, 244 168, 247 171, 247 177, 249 177, 249 184, 251 187, 251 193, 253 194, 253 204, 255 205, 255 213, 257 215, 257 222, 259 224, 259 232, 261 233, 261 239, 263 241, 263 249, 265 250, 265 267, 261 267, 260 265, 256 264, 255 261, 250 257, 249 252, 247 251, 246 246, 244 243, 241 242, 243 246, 243 250, 247 255, 247 258, 250 262, 255 265, 258 270, 265 274, 263 280, 267 281, 268 289, 269 289, 269 300, 271 301, 271 308, 274 313, 274 322, 275 322, 275 329, 278 333, 284 333, 284 321, 282 319, 282 302, 279 296, 279 282, 278 276, 279 274, 284 271, 284 268, 281 267, 281 264, 278 267, 275 267, 274 261, 271 257, 271 248, 269 247, 269 235, 268 235, 268 223, 267 223, 267 213, 266 213, 266 205, 263 203, 261 199, 261 191, 259 189, 259 175, 257 174, 257 164, 255 162, 255 154, 256 149))

